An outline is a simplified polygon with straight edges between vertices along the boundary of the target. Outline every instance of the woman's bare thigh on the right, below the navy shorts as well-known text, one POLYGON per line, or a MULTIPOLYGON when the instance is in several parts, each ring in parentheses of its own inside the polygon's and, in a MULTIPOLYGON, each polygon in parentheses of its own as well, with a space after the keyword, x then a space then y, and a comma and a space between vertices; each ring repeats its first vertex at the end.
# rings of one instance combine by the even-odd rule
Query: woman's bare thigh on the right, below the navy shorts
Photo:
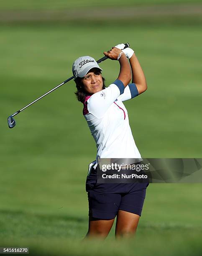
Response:
POLYGON ((118 211, 116 220, 116 237, 133 236, 136 233, 140 216, 123 210, 118 211))

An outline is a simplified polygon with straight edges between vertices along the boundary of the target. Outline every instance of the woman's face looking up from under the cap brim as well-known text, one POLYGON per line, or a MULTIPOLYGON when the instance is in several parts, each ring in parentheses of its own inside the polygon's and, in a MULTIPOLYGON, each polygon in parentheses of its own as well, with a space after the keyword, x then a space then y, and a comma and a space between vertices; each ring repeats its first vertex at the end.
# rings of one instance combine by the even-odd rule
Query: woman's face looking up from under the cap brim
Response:
POLYGON ((89 94, 100 92, 103 87, 102 75, 97 68, 90 69, 89 72, 82 78, 84 90, 89 94))

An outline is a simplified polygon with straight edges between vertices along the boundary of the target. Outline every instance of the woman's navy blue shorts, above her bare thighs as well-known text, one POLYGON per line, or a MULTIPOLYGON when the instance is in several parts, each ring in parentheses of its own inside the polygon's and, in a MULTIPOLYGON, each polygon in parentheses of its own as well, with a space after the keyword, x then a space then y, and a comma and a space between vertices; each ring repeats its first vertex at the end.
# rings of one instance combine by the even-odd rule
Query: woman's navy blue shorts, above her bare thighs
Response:
POLYGON ((97 183, 97 169, 92 168, 86 180, 89 216, 110 220, 118 210, 141 216, 148 183, 97 183))

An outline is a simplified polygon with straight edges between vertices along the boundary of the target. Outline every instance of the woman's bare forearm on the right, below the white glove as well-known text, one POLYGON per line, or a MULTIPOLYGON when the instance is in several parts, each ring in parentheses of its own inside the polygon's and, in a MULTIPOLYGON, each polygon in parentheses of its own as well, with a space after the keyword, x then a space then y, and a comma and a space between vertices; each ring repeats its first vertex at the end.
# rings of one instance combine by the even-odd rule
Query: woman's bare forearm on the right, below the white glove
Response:
POLYGON ((138 94, 141 94, 147 90, 145 75, 135 53, 133 53, 129 61, 132 70, 132 82, 136 84, 138 94))

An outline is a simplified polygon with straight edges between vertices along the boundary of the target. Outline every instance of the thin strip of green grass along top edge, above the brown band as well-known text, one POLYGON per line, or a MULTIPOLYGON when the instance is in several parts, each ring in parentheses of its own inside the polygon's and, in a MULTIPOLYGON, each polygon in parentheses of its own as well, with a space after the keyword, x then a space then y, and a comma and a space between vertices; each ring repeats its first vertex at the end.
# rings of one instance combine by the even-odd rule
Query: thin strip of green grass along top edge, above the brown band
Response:
POLYGON ((127 0, 115 1, 115 0, 18 0, 15 1, 3 1, 0 4, 1 10, 60 10, 69 8, 89 8, 89 7, 113 7, 113 6, 135 6, 135 5, 159 5, 159 4, 193 4, 202 3, 201 0, 127 0))

